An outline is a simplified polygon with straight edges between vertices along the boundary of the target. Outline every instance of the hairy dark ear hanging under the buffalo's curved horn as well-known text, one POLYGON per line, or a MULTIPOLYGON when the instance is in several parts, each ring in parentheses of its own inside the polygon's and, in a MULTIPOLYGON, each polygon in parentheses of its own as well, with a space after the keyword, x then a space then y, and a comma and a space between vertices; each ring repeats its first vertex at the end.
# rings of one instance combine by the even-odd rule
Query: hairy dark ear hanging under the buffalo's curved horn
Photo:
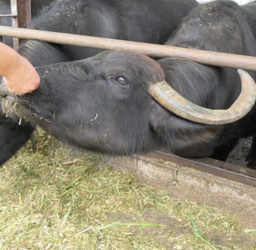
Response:
POLYGON ((182 157, 209 157, 218 142, 220 126, 191 122, 180 118, 159 104, 149 112, 149 127, 157 140, 182 157))

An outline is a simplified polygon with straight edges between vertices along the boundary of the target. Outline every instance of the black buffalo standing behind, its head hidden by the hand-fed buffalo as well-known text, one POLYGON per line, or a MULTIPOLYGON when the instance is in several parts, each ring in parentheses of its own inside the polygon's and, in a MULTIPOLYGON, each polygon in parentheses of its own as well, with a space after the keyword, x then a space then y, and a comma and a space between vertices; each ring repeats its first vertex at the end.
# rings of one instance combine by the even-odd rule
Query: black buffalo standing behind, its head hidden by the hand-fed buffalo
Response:
MULTIPOLYGON (((59 0, 28 24, 29 28, 164 43, 194 6, 195 0, 59 0)), ((18 48, 34 66, 77 60, 97 49, 25 41, 18 48)), ((50 102, 49 102, 50 104, 50 102)), ((33 127, 0 111, 0 165, 29 138, 33 127)))

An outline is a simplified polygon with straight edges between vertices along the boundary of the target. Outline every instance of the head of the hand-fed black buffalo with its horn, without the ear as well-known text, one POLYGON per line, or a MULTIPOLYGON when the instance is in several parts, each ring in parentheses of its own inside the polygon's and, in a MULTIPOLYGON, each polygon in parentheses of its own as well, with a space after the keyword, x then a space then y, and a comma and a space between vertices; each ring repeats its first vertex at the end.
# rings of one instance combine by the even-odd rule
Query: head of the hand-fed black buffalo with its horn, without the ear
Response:
MULTIPOLYGON (((64 141, 96 151, 130 154, 164 145, 165 139, 154 124, 155 119, 173 116, 166 109, 199 122, 205 114, 213 119, 224 111, 213 110, 212 114, 191 104, 165 82, 164 71, 156 61, 131 52, 103 52, 36 69, 41 84, 33 93, 10 95, 1 86, 4 112, 39 124, 64 141), (153 115, 156 110, 158 114, 153 115)), ((252 106, 255 86, 244 74, 242 78, 252 88, 252 106)))

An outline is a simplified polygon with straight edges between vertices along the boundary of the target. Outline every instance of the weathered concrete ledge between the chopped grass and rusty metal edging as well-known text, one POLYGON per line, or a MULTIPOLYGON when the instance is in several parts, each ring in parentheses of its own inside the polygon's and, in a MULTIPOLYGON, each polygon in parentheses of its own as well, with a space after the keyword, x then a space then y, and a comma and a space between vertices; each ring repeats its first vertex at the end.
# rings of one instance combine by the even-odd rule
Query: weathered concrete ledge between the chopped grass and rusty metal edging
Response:
POLYGON ((245 227, 256 226, 256 188, 252 186, 148 156, 104 156, 102 160, 132 172, 142 183, 157 186, 174 198, 230 211, 245 227))

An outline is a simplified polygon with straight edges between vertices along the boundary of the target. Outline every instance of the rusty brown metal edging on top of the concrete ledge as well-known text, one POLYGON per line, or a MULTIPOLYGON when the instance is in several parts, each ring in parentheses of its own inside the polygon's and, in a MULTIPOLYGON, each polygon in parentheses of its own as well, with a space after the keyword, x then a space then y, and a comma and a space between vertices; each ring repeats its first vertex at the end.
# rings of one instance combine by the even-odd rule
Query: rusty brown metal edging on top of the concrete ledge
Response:
POLYGON ((252 169, 224 163, 223 161, 211 158, 189 159, 159 151, 154 151, 145 155, 256 187, 256 171, 252 169))

